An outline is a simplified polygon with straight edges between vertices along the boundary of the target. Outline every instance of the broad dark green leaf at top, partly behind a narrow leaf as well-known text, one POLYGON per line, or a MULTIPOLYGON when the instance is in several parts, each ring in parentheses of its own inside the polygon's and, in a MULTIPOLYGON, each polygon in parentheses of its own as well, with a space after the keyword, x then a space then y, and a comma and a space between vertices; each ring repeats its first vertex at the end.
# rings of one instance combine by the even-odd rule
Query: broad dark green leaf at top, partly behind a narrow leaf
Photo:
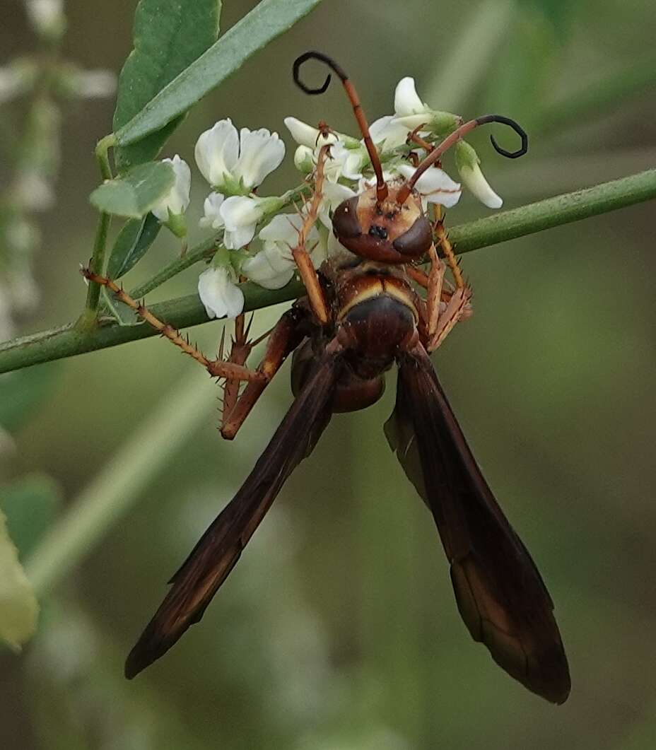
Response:
MULTIPOLYGON (((118 77, 114 130, 129 122, 217 40, 220 13, 220 0, 139 0, 134 49, 118 77)), ((180 121, 176 118, 139 143, 116 148, 118 171, 154 159, 180 121)))

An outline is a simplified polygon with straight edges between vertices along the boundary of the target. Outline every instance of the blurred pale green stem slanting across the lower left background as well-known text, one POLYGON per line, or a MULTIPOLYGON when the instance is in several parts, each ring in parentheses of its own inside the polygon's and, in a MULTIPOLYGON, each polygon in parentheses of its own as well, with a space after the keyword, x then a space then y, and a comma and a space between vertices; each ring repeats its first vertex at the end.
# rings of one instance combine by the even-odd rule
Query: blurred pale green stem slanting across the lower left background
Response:
POLYGON ((206 418, 216 396, 216 386, 207 374, 191 368, 133 431, 27 560, 25 571, 37 595, 45 595, 65 577, 139 498, 161 466, 206 418))

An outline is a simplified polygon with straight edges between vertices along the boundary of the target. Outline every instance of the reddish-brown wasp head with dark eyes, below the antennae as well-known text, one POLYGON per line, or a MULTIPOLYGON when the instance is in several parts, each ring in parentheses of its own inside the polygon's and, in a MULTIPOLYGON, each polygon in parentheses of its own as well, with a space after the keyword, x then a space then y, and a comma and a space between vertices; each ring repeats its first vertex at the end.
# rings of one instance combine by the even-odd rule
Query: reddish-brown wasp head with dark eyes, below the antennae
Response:
POLYGON ((385 200, 378 202, 376 187, 337 206, 333 231, 352 253, 382 263, 407 263, 426 254, 433 242, 430 222, 421 208, 421 199, 410 193, 397 203, 398 188, 391 187, 385 200))

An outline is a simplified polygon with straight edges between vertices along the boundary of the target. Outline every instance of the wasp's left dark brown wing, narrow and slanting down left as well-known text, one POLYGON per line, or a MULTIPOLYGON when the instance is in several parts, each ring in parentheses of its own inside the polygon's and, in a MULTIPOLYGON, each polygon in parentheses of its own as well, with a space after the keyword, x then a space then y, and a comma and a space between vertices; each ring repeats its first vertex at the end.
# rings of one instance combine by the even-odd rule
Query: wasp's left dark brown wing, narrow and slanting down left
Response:
POLYGON ((334 348, 329 347, 316 362, 313 374, 241 489, 169 581, 171 589, 127 657, 128 678, 160 658, 190 625, 199 622, 284 481, 316 445, 331 417, 341 369, 341 358, 334 348))

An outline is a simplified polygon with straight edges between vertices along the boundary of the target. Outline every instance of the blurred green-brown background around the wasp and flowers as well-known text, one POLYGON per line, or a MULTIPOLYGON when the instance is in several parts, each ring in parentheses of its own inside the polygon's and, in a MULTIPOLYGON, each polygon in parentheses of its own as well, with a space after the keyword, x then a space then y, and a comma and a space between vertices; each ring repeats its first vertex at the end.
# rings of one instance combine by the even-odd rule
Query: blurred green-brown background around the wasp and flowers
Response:
MULTIPOLYGON (((67 57, 118 72, 134 5, 68 1, 67 57)), ((222 28, 253 5, 226 0, 222 28)), ((22 4, 8 6, 2 62, 34 46, 22 4)), ((517 118, 532 138, 517 163, 492 153, 488 133, 472 142, 505 206, 522 205, 654 165, 656 100, 639 82, 656 68, 655 21, 651 0, 325 0, 199 104, 164 155, 193 163, 199 132, 226 116, 278 130, 289 156, 286 115, 354 132, 340 89, 307 98, 292 85, 293 58, 322 49, 352 75, 372 120, 391 113, 404 75, 433 107, 517 118)), ((73 320, 82 308, 77 269, 91 253, 87 196, 99 181, 92 151, 112 108, 108 99, 65 112, 58 203, 40 225, 42 300, 22 332, 73 320)), ((206 188, 195 169, 193 181, 198 214, 206 188)), ((262 193, 297 181, 288 158, 262 193)), ((448 223, 485 214, 463 196, 448 223)), ((564 706, 506 676, 460 621, 433 520, 382 434, 394 377, 382 403, 334 417, 202 623, 125 681, 124 656, 166 580, 291 401, 287 366, 235 443, 223 443, 217 392, 174 347, 151 339, 19 374, 43 398, 16 430, 15 452, 1 458, 5 483, 49 475, 63 514, 117 452, 149 469, 127 483, 134 502, 118 523, 41 592, 40 630, 23 654, 0 654, 0 746, 656 747, 654 251, 648 203, 468 254, 475 316, 435 358, 556 601, 573 683, 564 706)), ((176 252, 160 239, 127 287, 176 252)), ((198 272, 149 301, 190 293, 198 272)), ((259 314, 258 329, 281 309, 259 314)), ((221 326, 193 336, 211 351, 221 326)), ((109 484, 121 481, 121 466, 109 484)))

